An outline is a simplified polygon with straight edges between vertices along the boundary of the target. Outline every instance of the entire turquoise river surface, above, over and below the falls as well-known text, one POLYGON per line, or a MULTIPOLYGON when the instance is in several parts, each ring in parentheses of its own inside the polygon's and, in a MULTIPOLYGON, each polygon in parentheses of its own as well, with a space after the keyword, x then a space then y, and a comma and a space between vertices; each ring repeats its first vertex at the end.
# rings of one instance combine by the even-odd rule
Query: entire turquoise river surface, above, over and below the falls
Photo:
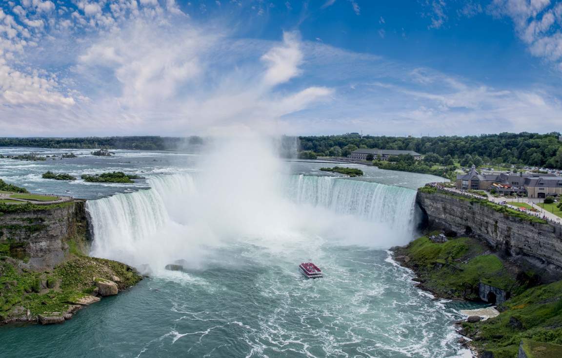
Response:
POLYGON ((368 168, 366 180, 357 182, 316 177, 322 164, 288 163, 280 175, 282 198, 257 198, 264 205, 256 209, 252 196, 250 203, 226 198, 230 187, 207 195, 194 158, 175 155, 120 152, 107 160, 60 160, 65 169, 58 170, 72 173, 145 173, 147 179, 134 186, 53 183, 40 173, 58 163, 0 160, 10 182, 101 198, 88 203, 92 254, 151 273, 65 324, 0 327, 0 356, 463 354, 450 324, 457 306, 416 289, 411 273, 386 251, 415 235, 415 191, 409 188, 435 177, 368 168), (138 191, 142 187, 152 189, 138 191), (297 265, 308 258, 325 278, 302 277, 297 265), (164 269, 176 260, 183 272, 164 269))

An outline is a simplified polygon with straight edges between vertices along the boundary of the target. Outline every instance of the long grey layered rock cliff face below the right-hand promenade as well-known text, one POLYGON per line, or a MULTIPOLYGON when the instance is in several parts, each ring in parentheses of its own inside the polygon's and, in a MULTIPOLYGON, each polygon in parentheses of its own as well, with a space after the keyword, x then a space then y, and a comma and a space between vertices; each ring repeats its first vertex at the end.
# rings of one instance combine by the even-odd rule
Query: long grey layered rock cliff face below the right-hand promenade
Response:
POLYGON ((416 203, 432 227, 475 235, 499 253, 519 256, 534 267, 562 272, 562 226, 529 222, 452 195, 418 191, 416 203))

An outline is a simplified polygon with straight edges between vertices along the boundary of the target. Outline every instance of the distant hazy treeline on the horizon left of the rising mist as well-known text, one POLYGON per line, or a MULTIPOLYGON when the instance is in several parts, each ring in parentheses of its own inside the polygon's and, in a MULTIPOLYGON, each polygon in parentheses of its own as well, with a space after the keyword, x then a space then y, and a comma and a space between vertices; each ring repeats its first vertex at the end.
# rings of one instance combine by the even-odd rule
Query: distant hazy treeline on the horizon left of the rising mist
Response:
POLYGON ((37 148, 181 150, 181 149, 193 149, 194 147, 201 144, 203 144, 203 139, 198 136, 0 138, 0 146, 29 146, 29 147, 37 147, 37 148))

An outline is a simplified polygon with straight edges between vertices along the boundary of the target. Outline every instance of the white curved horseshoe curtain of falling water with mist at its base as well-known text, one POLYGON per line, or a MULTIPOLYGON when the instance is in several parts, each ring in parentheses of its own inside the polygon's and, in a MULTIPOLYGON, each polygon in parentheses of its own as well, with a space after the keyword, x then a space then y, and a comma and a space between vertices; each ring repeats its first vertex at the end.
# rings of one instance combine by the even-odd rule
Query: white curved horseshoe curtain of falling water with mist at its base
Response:
POLYGON ((410 189, 287 175, 279 180, 279 196, 221 202, 224 195, 208 195, 201 180, 189 174, 154 177, 151 189, 88 201, 92 254, 162 268, 179 259, 197 265, 213 248, 232 242, 299 250, 310 242, 384 248, 404 244, 413 233, 410 189))

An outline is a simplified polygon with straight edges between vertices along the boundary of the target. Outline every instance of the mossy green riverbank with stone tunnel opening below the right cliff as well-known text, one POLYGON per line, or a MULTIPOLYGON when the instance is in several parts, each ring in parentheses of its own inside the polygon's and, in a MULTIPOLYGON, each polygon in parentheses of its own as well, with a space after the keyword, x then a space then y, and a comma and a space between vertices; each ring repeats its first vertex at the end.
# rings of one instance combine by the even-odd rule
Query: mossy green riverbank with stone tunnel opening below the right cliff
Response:
POLYGON ((395 260, 416 274, 417 286, 442 299, 488 301, 500 312, 486 320, 474 315, 456 322, 459 334, 468 338, 460 344, 481 357, 514 358, 523 339, 529 339, 545 342, 545 357, 556 356, 548 354, 562 344, 562 281, 541 284, 541 277, 473 237, 430 234, 391 249, 395 260))

